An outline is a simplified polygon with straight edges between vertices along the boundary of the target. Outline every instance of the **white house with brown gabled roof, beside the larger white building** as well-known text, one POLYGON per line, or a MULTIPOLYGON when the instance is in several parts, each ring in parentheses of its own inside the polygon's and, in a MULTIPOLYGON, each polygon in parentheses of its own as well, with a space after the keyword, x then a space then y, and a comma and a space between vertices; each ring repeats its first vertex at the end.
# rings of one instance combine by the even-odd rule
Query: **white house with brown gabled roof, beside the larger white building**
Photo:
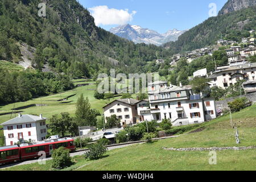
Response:
POLYGON ((121 126, 134 124, 137 122, 137 103, 133 98, 118 99, 103 107, 105 123, 106 118, 116 115, 120 119, 121 126))

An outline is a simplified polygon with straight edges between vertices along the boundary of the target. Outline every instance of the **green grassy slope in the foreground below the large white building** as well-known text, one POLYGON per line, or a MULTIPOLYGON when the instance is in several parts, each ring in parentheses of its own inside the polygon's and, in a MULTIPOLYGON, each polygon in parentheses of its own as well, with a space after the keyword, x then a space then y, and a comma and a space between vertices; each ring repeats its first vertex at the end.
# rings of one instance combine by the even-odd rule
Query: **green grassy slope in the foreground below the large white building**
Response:
MULTIPOLYGON (((73 166, 65 170, 255 170, 256 150, 217 151, 217 165, 210 165, 207 151, 166 151, 163 147, 255 146, 256 105, 233 114, 237 122, 241 144, 236 144, 229 115, 203 123, 205 130, 187 133, 177 138, 154 143, 135 144, 108 151, 105 158, 89 161, 76 156, 73 166)), ((8 170, 52 170, 51 160, 46 165, 27 164, 8 170)))

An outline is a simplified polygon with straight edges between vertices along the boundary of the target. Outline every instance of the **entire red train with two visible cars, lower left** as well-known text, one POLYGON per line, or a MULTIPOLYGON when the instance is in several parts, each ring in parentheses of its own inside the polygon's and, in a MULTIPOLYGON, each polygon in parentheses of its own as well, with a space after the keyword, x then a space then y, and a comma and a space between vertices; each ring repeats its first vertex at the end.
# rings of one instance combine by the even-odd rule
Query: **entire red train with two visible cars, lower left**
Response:
POLYGON ((50 156, 52 155, 52 151, 59 147, 68 148, 71 152, 76 150, 75 142, 72 138, 25 143, 20 144, 19 146, 0 147, 0 164, 39 158, 39 151, 44 151, 46 152, 46 156, 50 156))

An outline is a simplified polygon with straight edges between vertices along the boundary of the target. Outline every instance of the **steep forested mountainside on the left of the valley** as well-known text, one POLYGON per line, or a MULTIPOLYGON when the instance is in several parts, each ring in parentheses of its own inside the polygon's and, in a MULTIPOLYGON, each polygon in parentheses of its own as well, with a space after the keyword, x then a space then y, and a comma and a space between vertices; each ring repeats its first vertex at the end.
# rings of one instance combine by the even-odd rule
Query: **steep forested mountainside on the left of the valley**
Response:
POLYGON ((41 2, 0 1, 0 60, 17 63, 16 43, 23 42, 36 48, 35 68, 41 70, 48 63, 71 77, 92 77, 114 67, 125 73, 143 72, 147 61, 167 56, 163 48, 135 45, 96 27, 89 11, 76 0, 45 1, 45 18, 38 16, 41 2))

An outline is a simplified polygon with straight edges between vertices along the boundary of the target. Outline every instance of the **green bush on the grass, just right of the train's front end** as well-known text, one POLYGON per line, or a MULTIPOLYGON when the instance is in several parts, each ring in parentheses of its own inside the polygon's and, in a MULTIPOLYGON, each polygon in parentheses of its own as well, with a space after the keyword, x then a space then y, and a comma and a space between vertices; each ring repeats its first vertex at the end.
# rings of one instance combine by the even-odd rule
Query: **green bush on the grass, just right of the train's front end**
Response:
POLYGON ((106 153, 106 147, 101 143, 94 143, 89 147, 89 151, 85 153, 85 159, 100 159, 106 153))

